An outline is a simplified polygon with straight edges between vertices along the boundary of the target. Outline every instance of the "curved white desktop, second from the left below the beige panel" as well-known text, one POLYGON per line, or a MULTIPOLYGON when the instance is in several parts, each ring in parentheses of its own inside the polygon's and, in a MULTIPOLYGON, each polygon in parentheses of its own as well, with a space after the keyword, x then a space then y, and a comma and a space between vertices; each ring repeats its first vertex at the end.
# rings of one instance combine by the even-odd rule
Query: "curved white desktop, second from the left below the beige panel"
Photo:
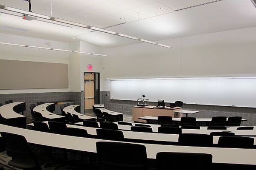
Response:
POLYGON ((44 103, 42 105, 36 106, 33 111, 39 112, 42 114, 42 116, 46 119, 59 119, 59 118, 64 118, 64 116, 60 116, 57 114, 54 114, 52 112, 47 111, 47 107, 49 105, 53 105, 54 103, 44 103))

